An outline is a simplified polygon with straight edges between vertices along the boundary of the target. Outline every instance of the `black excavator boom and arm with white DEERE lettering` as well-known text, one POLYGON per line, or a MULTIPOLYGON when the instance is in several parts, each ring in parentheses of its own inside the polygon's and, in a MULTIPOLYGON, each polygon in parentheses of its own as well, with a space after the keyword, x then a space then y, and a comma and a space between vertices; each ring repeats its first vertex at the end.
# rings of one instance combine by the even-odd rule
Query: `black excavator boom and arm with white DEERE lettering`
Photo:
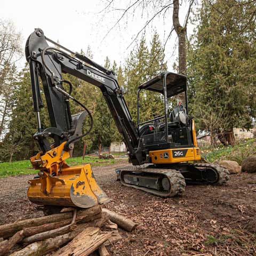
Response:
MULTIPOLYGON (((70 51, 52 41, 39 28, 35 29, 27 40, 26 59, 29 62, 34 110, 38 123, 38 132, 34 138, 38 141, 43 153, 51 149, 47 137, 54 139, 54 147, 66 141, 64 150, 72 149, 74 142, 84 136, 82 134, 84 118, 87 115, 91 117, 86 107, 72 97, 72 85, 63 79, 62 74, 64 73, 100 88, 117 129, 123 135, 131 162, 133 165, 143 163, 138 129, 123 97, 124 90, 119 87, 113 71, 107 70, 84 55, 70 51), (53 44, 54 47, 49 46, 48 43, 53 44), (42 80, 51 122, 51 127, 47 129, 43 129, 40 118, 40 109, 43 107, 43 103, 39 77, 42 80), (63 89, 64 83, 69 85, 69 92, 63 89), (69 100, 74 100, 84 107, 84 113, 71 116, 69 100)), ((92 122, 91 117, 91 124, 92 122)))

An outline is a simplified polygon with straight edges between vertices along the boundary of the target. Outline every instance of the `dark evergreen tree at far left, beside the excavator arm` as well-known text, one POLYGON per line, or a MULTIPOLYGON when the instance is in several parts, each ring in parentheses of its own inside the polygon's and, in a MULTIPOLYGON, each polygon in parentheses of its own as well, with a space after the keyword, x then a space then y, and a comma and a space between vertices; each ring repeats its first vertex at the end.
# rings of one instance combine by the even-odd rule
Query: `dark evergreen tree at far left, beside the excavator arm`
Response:
MULTIPOLYGON (((34 155, 38 150, 33 140, 33 135, 37 131, 35 114, 33 111, 33 101, 28 68, 19 74, 19 81, 15 81, 15 86, 11 94, 12 113, 10 115, 9 132, 6 134, 0 145, 1 161, 12 161, 26 159, 34 155)), ((45 111, 42 117, 46 116, 45 111)), ((48 126, 47 118, 43 118, 44 126, 48 126)))

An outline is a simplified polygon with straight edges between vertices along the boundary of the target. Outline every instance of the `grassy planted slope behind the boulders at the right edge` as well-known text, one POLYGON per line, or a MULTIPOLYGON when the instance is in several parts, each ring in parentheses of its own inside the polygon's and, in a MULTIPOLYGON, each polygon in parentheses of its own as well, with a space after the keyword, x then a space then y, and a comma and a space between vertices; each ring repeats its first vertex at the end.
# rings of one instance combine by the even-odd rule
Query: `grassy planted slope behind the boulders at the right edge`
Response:
POLYGON ((209 162, 217 162, 222 159, 236 161, 242 164, 244 158, 256 154, 256 139, 238 142, 234 147, 220 146, 217 149, 202 148, 203 157, 209 162))

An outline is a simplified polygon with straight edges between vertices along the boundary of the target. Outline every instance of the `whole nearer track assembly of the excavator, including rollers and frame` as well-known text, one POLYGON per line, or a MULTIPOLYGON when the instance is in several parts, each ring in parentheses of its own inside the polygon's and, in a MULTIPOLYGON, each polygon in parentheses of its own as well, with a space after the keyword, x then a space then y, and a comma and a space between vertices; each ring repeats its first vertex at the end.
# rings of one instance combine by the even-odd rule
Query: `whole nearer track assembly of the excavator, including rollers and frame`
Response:
POLYGON ((186 182, 179 171, 147 166, 125 166, 116 169, 122 185, 148 193, 173 197, 185 193, 186 182))

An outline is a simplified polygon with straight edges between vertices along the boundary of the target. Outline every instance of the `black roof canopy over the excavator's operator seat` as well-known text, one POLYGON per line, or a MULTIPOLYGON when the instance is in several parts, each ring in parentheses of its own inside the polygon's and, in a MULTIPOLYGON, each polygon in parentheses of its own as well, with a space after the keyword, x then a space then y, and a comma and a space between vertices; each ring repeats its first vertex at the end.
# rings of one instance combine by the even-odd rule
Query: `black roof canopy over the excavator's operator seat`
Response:
POLYGON ((171 72, 161 73, 139 86, 139 90, 149 90, 164 94, 164 77, 166 76, 167 98, 186 91, 187 77, 171 72))

